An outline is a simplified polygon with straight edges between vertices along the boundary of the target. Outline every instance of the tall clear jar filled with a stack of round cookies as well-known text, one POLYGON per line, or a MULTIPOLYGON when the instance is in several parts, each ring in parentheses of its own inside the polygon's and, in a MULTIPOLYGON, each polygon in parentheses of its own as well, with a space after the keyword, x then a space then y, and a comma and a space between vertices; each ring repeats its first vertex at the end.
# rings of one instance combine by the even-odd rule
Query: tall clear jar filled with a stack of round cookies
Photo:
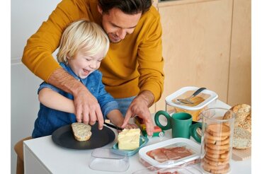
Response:
POLYGON ((200 112, 202 118, 201 169, 204 173, 229 173, 231 170, 234 112, 210 108, 200 112), (232 118, 223 120, 227 113, 232 118))

